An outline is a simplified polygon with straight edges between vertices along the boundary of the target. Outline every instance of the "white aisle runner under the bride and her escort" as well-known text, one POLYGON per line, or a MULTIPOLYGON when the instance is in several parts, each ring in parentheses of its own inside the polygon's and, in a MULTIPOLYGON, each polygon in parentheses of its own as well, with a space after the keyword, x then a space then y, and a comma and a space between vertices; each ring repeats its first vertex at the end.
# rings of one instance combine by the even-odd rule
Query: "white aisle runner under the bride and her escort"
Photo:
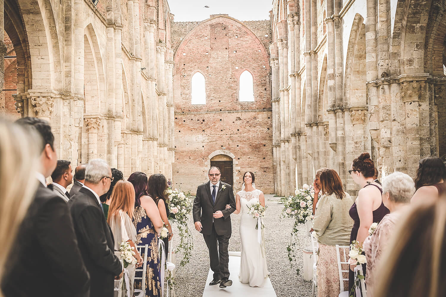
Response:
POLYGON ((207 275, 206 287, 204 287, 203 297, 229 297, 229 296, 243 296, 243 297, 276 297, 273 285, 269 277, 265 280, 262 288, 253 288, 249 284, 242 284, 239 281, 240 270, 240 252, 229 252, 229 277, 232 280, 232 285, 226 289, 221 289, 219 285, 210 286, 213 272, 209 269, 207 275))

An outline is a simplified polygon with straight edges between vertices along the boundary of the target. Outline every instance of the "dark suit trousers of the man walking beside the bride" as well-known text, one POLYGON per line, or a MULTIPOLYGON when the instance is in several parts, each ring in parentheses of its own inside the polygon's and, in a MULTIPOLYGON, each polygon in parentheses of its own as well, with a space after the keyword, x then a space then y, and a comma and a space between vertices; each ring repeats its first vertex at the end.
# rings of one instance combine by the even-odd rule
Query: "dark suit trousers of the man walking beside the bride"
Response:
POLYGON ((221 280, 223 277, 229 278, 229 252, 227 249, 231 234, 218 235, 215 232, 214 224, 212 224, 211 234, 203 234, 203 237, 209 249, 209 260, 211 261, 211 269, 214 272, 214 279, 221 280))

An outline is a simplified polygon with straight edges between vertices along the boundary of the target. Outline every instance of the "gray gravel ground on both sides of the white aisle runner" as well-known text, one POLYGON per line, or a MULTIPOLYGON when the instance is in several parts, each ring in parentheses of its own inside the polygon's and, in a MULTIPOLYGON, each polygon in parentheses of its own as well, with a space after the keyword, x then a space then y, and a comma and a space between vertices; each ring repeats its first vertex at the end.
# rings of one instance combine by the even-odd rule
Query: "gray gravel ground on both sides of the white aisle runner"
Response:
MULTIPOLYGON (((270 279, 276 291, 277 297, 304 297, 310 296, 311 281, 305 281, 302 277, 303 259, 299 253, 297 265, 301 269, 297 275, 294 268, 291 268, 288 261, 286 248, 289 244, 289 234, 294 222, 291 219, 280 219, 283 208, 282 204, 277 204, 280 197, 265 195, 268 206, 265 216, 265 248, 267 255, 268 270, 270 279)), ((229 240, 230 251, 240 251, 240 215, 231 215, 232 236, 229 240)), ((192 215, 190 215, 189 228, 194 234, 194 249, 190 263, 179 269, 176 273, 176 297, 199 297, 202 296, 207 274, 209 272, 209 253, 201 233, 194 228, 192 215)), ((306 236, 305 226, 299 228, 299 246, 305 248, 310 245, 310 239, 306 236)), ((175 231, 174 231, 175 232, 175 231)), ((174 246, 175 246, 175 237, 174 246)), ((180 259, 182 255, 177 255, 180 259)), ((236 275, 230 277, 237 281, 236 275)))

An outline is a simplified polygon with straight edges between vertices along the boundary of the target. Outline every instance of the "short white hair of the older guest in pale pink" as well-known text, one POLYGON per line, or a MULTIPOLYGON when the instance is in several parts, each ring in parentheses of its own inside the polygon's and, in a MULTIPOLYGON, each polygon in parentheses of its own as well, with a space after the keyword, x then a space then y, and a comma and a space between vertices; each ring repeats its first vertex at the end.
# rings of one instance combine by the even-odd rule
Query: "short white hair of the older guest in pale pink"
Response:
POLYGON ((415 183, 409 175, 396 171, 383 180, 383 193, 389 193, 393 202, 409 203, 415 193, 415 183))

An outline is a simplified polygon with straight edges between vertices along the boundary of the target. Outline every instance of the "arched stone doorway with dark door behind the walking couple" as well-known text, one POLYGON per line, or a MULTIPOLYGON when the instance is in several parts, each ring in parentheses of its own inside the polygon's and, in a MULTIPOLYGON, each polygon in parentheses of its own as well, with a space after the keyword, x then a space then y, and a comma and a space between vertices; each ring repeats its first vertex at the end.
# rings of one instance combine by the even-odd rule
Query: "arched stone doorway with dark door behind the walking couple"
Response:
POLYGON ((240 167, 237 165, 238 161, 235 159, 235 155, 226 150, 212 152, 206 161, 207 168, 210 168, 211 166, 219 167, 222 173, 220 179, 223 182, 230 184, 232 187, 234 187, 234 184, 239 179, 236 172, 240 170, 240 167))

